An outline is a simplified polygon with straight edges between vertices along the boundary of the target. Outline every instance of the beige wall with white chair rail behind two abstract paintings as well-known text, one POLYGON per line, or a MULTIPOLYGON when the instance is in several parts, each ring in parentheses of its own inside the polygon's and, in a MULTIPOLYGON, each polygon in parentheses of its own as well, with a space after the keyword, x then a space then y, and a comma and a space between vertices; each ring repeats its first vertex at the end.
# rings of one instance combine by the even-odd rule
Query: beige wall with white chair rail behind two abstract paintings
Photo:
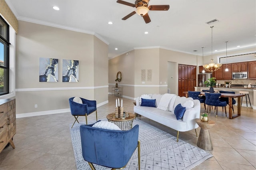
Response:
POLYGON ((104 102, 107 68, 108 45, 93 35, 19 21, 16 113, 69 109, 68 98, 74 96, 96 100, 97 104, 104 102), (40 57, 59 59, 58 82, 39 82, 40 57), (62 82, 62 59, 79 60, 78 83, 62 82))

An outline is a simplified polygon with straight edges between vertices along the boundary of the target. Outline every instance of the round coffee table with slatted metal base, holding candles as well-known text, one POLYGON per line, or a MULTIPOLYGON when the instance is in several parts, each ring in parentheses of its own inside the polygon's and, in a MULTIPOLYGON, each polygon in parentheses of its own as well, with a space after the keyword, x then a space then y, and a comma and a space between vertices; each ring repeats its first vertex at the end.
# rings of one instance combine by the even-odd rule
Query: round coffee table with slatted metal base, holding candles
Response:
POLYGON ((130 117, 127 118, 113 118, 113 113, 107 115, 107 119, 109 122, 117 125, 121 130, 130 130, 132 129, 132 122, 135 118, 135 115, 129 113, 130 117))

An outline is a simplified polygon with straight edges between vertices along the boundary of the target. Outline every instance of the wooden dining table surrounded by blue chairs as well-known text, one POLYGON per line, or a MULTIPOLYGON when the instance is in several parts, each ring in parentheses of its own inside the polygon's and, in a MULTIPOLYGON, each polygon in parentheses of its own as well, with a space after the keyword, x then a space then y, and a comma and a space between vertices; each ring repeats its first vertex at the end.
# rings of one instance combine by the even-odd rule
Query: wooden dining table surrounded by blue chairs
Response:
MULTIPOLYGON (((188 91, 183 92, 186 97, 188 97, 188 91)), ((202 92, 200 95, 205 95, 205 93, 209 92, 202 92)), ((232 115, 232 104, 228 105, 228 118, 234 119, 241 115, 241 97, 245 96, 244 94, 232 94, 232 93, 220 93, 220 97, 228 97, 228 103, 232 103, 232 98, 237 98, 237 114, 232 115)))

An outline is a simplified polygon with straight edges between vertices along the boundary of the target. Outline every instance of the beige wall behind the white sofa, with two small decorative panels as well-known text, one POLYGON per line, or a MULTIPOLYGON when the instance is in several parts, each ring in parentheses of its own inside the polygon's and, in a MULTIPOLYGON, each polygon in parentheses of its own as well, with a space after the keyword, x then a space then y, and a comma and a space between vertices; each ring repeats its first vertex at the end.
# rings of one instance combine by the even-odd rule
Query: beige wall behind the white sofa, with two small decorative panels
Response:
MULTIPOLYGON (((198 56, 196 55, 190 55, 160 48, 135 49, 134 51, 130 51, 130 55, 133 54, 133 52, 134 62, 130 61, 130 63, 124 63, 124 58, 127 57, 126 54, 109 60, 109 83, 113 83, 112 86, 114 86, 115 83, 112 77, 115 77, 117 71, 120 71, 118 69, 122 69, 122 65, 131 68, 130 70, 128 70, 128 72, 131 78, 134 77, 134 79, 129 79, 129 87, 123 86, 124 93, 125 91, 129 91, 129 93, 126 93, 125 96, 130 98, 135 98, 142 94, 148 93, 167 93, 169 76, 168 72, 171 71, 171 73, 175 73, 176 75, 178 75, 178 63, 197 65, 198 56), (168 61, 173 62, 174 67, 168 68, 168 61), (134 68, 134 71, 132 70, 132 68, 134 68), (142 69, 146 69, 146 72, 148 69, 152 69, 152 81, 146 80, 144 83, 142 83, 142 69)), ((175 82, 172 83, 170 87, 172 87, 172 89, 176 89, 176 93, 178 93, 178 76, 176 76, 175 82)), ((111 93, 111 88, 109 89, 109 92, 111 93)))

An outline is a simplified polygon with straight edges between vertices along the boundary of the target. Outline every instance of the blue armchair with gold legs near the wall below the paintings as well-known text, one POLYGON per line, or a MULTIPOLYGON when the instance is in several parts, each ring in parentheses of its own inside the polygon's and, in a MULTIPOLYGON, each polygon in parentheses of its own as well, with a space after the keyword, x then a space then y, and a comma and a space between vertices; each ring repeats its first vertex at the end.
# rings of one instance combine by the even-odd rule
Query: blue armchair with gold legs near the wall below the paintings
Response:
POLYGON ((96 112, 96 121, 98 121, 96 101, 87 100, 87 99, 83 99, 80 97, 80 99, 82 100, 82 103, 77 103, 77 102, 73 101, 74 98, 75 97, 71 97, 69 99, 71 115, 74 116, 74 118, 76 119, 74 121, 72 127, 74 126, 76 121, 77 121, 77 123, 79 123, 78 122, 79 116, 85 116, 86 125, 87 125, 87 115, 90 115, 93 112, 96 112))

